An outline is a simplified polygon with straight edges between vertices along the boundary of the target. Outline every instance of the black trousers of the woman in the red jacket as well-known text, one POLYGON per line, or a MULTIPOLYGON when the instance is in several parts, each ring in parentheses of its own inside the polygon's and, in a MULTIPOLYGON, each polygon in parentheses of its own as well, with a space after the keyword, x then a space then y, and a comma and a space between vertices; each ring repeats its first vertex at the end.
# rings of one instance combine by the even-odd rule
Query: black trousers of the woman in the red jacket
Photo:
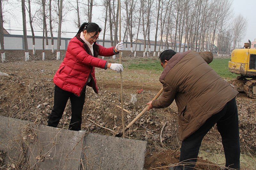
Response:
POLYGON ((82 92, 80 97, 77 97, 74 93, 62 90, 57 85, 55 85, 54 89, 54 106, 51 114, 49 115, 48 126, 57 127, 65 110, 68 98, 71 102, 72 112, 68 129, 76 131, 81 130, 85 90, 82 92))

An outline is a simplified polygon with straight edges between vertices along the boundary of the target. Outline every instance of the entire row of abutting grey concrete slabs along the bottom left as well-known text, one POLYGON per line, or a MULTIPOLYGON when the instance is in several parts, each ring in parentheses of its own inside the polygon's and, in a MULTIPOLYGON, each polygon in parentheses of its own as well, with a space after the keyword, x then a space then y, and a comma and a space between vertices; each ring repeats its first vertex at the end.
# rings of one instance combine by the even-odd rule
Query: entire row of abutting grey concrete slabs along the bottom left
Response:
POLYGON ((35 125, 0 116, 6 163, 30 169, 142 170, 146 141, 35 125))

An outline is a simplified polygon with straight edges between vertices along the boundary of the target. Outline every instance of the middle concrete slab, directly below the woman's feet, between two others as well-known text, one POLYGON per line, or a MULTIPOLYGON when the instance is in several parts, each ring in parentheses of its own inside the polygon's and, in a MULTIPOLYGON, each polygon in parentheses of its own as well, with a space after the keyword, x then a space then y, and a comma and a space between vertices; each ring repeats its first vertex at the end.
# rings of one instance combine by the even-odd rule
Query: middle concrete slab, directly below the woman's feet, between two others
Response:
POLYGON ((31 169, 78 170, 85 131, 39 125, 28 155, 31 169))

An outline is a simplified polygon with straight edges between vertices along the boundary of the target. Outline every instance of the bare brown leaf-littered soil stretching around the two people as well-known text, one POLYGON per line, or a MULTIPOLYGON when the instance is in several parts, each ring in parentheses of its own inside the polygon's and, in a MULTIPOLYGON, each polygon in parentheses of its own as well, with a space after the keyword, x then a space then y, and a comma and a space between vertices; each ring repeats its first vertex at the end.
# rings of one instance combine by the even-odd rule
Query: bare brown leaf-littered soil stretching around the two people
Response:
MULTIPOLYGON (((47 118, 53 107, 53 76, 65 57, 65 51, 61 51, 60 61, 56 61, 56 52, 52 54, 50 50, 45 50, 45 61, 41 61, 42 51, 36 53, 33 55, 32 51, 29 51, 30 60, 25 62, 24 51, 5 51, 7 61, 0 63, 0 71, 9 76, 0 76, 0 115, 47 125, 47 118)), ((157 59, 152 54, 146 56, 148 60, 157 59)), ((137 55, 134 57, 131 52, 124 51, 122 56, 123 101, 124 109, 127 110, 124 111, 125 125, 128 125, 162 88, 158 80, 160 74, 157 72, 125 70, 131 60, 143 58, 143 53, 137 52, 137 55), (132 95, 136 95, 137 99, 134 104, 131 101, 132 95)), ((116 59, 105 57, 105 60, 119 63, 119 55, 116 55, 116 59)), ((96 68, 96 79, 99 93, 94 93, 90 87, 86 89, 82 130, 114 136, 122 130, 120 74, 113 70, 96 68), (100 126, 111 129, 114 133, 100 126)), ((256 152, 255 101, 244 93, 239 93, 236 97, 241 153, 249 156, 255 156, 256 152)), ((70 118, 71 105, 68 101, 58 127, 67 129, 70 118)), ((125 134, 126 138, 148 141, 144 164, 147 170, 168 170, 169 164, 179 162, 181 142, 178 136, 175 102, 167 108, 147 111, 125 134)), ((223 169, 225 164, 221 161, 209 161, 210 157, 223 154, 221 137, 216 127, 205 136, 201 152, 204 154, 200 154, 196 169, 223 169)), ((254 159, 251 165, 242 165, 242 169, 254 169, 255 162, 254 159)))

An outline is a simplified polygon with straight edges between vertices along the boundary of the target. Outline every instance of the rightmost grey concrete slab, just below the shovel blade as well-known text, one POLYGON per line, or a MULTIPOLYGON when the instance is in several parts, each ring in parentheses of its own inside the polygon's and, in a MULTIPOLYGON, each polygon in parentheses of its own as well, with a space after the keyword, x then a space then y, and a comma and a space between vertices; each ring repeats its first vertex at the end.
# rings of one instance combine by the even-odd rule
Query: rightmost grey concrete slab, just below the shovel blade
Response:
POLYGON ((142 170, 146 141, 89 133, 84 137, 86 170, 142 170))

